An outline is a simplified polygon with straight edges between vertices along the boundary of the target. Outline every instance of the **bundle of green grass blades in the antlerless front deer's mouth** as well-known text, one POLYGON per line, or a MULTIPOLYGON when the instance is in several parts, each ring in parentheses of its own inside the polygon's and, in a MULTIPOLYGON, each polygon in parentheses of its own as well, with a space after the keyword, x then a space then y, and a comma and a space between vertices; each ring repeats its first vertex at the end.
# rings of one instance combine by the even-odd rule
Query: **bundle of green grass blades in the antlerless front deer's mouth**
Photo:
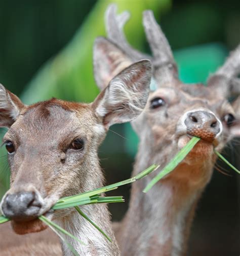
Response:
MULTIPOLYGON (((136 176, 117 182, 115 184, 111 184, 99 189, 95 189, 92 191, 84 192, 78 195, 64 197, 58 200, 58 202, 52 207, 53 210, 59 210, 64 208, 70 208, 75 207, 76 211, 83 216, 91 225, 93 225, 103 236, 107 238, 108 241, 111 242, 111 238, 103 231, 101 228, 99 228, 80 208, 81 205, 87 205, 87 204, 96 204, 96 203, 119 203, 124 202, 124 198, 122 196, 113 196, 113 197, 105 197, 101 196, 102 193, 115 190, 119 186, 123 186, 126 184, 130 184, 132 182, 135 182, 136 180, 145 177, 150 172, 156 170, 159 167, 159 165, 153 164, 150 167, 148 167, 146 170, 140 172, 136 176)), ((74 248, 69 244, 61 235, 60 233, 67 235, 71 237, 74 240, 77 240, 79 243, 85 245, 85 243, 81 240, 79 240, 77 237, 73 236, 66 230, 62 229, 60 226, 58 226, 56 223, 50 221, 47 217, 44 215, 38 217, 39 220, 44 222, 46 225, 48 225, 69 247, 69 249, 72 251, 74 255, 78 255, 77 252, 74 250, 74 248)), ((9 218, 5 217, 4 215, 0 215, 0 224, 3 224, 5 222, 10 221, 9 218)))

